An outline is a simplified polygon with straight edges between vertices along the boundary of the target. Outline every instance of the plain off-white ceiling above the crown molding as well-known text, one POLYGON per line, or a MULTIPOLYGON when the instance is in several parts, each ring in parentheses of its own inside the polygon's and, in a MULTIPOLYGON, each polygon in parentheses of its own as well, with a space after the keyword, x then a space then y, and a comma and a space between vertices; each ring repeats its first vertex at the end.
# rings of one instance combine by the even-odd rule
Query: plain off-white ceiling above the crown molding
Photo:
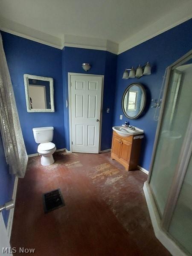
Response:
POLYGON ((61 41, 67 34, 120 44, 183 5, 192 7, 191 3, 191 0, 1 0, 0 17, 3 28, 9 24, 9 30, 21 34, 28 27, 61 41))

